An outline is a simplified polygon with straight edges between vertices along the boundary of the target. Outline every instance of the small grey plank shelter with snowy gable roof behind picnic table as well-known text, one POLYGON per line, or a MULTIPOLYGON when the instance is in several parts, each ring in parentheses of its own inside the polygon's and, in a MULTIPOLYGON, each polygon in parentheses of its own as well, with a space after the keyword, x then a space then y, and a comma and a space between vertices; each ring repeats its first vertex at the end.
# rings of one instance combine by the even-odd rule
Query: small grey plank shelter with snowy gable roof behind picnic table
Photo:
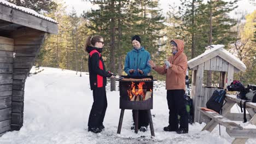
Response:
POLYGON ((226 51, 224 45, 211 45, 206 49, 200 56, 188 61, 188 67, 193 71, 191 98, 193 98, 194 122, 200 123, 204 122, 204 119, 197 107, 206 107, 206 102, 214 90, 230 85, 234 73, 246 70, 246 65, 226 51), (207 71, 218 74, 218 83, 214 83, 213 86, 203 83, 208 78, 204 77, 204 73, 207 71))

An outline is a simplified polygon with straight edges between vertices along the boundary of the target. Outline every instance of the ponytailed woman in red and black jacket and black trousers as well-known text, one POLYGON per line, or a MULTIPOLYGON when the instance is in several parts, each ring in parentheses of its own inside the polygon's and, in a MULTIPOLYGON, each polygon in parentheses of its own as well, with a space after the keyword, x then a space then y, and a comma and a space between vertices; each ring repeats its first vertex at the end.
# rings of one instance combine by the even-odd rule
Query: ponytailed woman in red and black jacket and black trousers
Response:
POLYGON ((88 131, 94 133, 100 133, 104 129, 103 121, 107 109, 107 77, 113 75, 113 73, 105 69, 101 56, 103 46, 104 41, 100 35, 88 37, 85 44, 85 50, 89 53, 90 86, 94 97, 88 121, 88 131))

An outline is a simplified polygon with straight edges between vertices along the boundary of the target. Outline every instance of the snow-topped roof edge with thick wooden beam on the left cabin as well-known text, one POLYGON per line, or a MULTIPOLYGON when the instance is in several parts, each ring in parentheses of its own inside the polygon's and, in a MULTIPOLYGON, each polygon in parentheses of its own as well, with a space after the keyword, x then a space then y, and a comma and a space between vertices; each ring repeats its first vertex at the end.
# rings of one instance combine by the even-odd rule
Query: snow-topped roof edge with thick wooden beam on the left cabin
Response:
POLYGON ((0 32, 9 33, 20 27, 57 34, 57 22, 36 11, 0 0, 0 32))

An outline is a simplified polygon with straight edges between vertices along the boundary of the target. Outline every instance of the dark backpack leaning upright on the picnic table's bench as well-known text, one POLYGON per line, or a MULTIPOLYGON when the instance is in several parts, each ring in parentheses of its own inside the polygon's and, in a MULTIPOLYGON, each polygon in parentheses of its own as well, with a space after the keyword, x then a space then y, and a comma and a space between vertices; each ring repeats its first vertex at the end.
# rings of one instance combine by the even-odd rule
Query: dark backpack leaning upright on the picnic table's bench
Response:
POLYGON ((225 97, 226 97, 225 90, 223 89, 220 91, 215 90, 212 94, 212 97, 207 101, 206 107, 208 109, 211 109, 220 113, 223 107, 223 102, 225 100, 225 97))

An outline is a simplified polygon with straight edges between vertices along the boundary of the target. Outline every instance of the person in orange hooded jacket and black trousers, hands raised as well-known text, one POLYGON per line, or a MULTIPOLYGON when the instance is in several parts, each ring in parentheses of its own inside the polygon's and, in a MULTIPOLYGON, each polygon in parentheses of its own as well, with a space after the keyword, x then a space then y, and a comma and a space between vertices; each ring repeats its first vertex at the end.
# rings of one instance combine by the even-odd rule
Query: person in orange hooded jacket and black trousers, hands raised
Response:
POLYGON ((166 74, 167 103, 169 109, 169 125, 164 131, 176 131, 178 134, 188 133, 188 112, 185 108, 185 76, 188 69, 188 60, 184 51, 184 42, 180 39, 171 40, 172 56, 163 66, 155 65, 149 61, 159 74, 166 74), (178 127, 178 115, 180 126, 178 127))

